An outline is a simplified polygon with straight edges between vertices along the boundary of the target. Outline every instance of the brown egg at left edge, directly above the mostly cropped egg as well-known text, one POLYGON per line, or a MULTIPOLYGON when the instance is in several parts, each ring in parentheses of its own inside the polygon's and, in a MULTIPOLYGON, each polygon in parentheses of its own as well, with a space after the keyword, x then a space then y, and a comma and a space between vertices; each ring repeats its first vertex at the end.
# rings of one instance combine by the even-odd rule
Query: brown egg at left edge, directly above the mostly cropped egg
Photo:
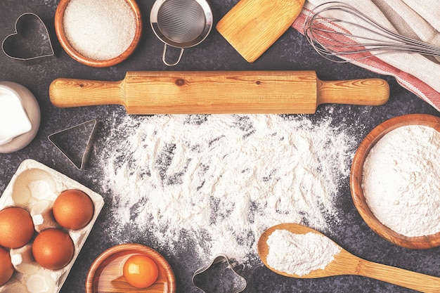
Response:
POLYGON ((0 211, 0 245, 18 248, 34 236, 34 222, 29 212, 21 207, 7 207, 0 211))

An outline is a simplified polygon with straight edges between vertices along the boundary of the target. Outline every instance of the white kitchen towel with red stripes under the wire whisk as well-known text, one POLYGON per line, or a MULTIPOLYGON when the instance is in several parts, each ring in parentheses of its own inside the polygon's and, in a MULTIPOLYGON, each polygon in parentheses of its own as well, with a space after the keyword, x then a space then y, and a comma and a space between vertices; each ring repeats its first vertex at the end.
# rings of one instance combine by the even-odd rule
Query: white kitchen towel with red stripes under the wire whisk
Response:
MULTIPOLYGON (((306 16, 324 0, 306 0, 292 27, 304 34, 306 16)), ((437 0, 342 0, 389 30, 440 47, 440 1, 437 0)), ((330 4, 329 4, 330 5, 330 4)), ((338 16, 333 11, 332 16, 338 16)), ((339 15, 340 16, 340 15, 339 15)), ((347 15, 344 14, 345 18, 347 15)), ((343 30, 358 30, 339 22, 343 30)), ((334 27, 328 27, 334 30, 334 27)), ((353 32, 368 37, 372 32, 353 32)), ((344 58, 343 56, 340 56, 344 58)), ((351 63, 380 74, 392 75, 401 86, 440 111, 440 58, 418 53, 383 53, 351 63)))

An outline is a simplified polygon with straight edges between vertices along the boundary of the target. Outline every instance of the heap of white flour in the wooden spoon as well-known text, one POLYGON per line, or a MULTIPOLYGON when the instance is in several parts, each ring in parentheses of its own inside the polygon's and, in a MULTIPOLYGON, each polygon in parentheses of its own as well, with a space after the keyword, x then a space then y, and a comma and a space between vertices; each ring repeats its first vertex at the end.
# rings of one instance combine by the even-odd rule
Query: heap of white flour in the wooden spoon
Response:
POLYGON ((275 230, 267 239, 267 263, 277 271, 290 275, 306 275, 324 269, 335 259, 341 247, 321 234, 295 234, 275 230))

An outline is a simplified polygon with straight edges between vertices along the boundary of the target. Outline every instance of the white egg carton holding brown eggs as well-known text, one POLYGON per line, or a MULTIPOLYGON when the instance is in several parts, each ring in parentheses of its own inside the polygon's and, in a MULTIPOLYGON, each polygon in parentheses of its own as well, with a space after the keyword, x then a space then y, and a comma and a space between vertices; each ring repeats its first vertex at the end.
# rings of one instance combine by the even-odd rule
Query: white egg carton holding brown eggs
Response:
POLYGON ((91 221, 78 230, 67 230, 73 240, 75 252, 70 263, 57 271, 42 268, 32 256, 32 242, 18 249, 10 249, 15 273, 11 280, 0 287, 0 293, 58 293, 75 263, 91 228, 104 205, 101 195, 84 185, 60 174, 33 159, 23 161, 11 182, 0 197, 0 210, 6 207, 22 207, 30 212, 37 233, 47 228, 60 228, 53 219, 53 202, 68 189, 82 190, 94 204, 91 221))

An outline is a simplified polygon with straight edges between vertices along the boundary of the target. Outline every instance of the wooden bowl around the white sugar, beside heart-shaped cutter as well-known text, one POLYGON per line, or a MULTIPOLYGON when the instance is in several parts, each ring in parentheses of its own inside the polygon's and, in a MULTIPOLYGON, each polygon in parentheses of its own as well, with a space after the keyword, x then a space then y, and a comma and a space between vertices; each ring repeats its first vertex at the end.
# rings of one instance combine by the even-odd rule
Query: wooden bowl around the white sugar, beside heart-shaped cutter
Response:
POLYGON ((73 59, 77 60, 79 63, 91 67, 110 67, 113 65, 117 65, 118 63, 121 63, 122 61, 126 60, 138 46, 142 34, 141 10, 139 9, 138 4, 136 4, 135 0, 126 0, 126 1, 131 7, 131 9, 133 9, 134 16, 136 18, 136 32, 134 34, 133 41, 131 41, 131 44, 129 45, 127 50, 125 50, 121 55, 115 58, 108 60, 94 60, 82 56, 82 54, 76 51, 75 48, 73 48, 72 45, 70 45, 69 41, 67 41, 67 37, 65 36, 64 27, 63 27, 63 18, 64 18, 65 8, 69 4, 70 0, 60 0, 60 3, 58 3, 55 12, 55 32, 56 32, 56 36, 58 37, 58 41, 60 41, 60 44, 63 47, 63 49, 66 51, 66 53, 73 59))

